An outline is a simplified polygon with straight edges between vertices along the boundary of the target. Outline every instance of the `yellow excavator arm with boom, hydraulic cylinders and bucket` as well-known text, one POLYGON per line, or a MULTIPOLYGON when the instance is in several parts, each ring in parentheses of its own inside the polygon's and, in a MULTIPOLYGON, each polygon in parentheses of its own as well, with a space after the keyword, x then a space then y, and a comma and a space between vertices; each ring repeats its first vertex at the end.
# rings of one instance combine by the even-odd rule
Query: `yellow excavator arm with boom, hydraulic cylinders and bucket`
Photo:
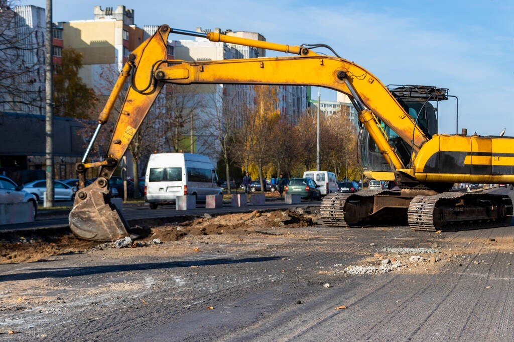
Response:
POLYGON ((70 228, 77 235, 94 240, 114 240, 127 236, 127 224, 108 196, 108 180, 116 170, 132 138, 166 83, 171 84, 260 84, 312 85, 331 88, 350 96, 359 109, 359 119, 394 169, 405 166, 388 144, 378 125, 381 119, 418 151, 428 138, 397 103, 386 87, 369 71, 343 58, 319 55, 302 46, 281 45, 253 39, 159 27, 129 56, 116 85, 98 119, 98 127, 77 165, 79 191, 69 215, 70 228), (297 56, 229 59, 224 61, 185 62, 167 58, 171 33, 201 35, 213 42, 241 44, 276 50, 297 56), (86 163, 101 127, 107 122, 124 84, 130 87, 123 101, 105 160, 86 163), (99 168, 99 177, 84 187, 85 171, 99 168))

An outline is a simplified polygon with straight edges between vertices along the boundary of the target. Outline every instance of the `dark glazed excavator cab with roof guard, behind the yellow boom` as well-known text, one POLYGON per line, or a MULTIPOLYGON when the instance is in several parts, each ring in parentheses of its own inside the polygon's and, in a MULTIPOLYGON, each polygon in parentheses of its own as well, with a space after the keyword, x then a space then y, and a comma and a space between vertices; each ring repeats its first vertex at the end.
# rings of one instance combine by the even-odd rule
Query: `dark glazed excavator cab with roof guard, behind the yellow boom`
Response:
MULTIPOLYGON (((437 115, 433 103, 437 105, 439 101, 448 99, 448 89, 412 85, 389 85, 388 89, 428 138, 431 138, 437 133, 437 115)), ((379 124, 382 132, 387 136, 389 145, 398 154, 403 164, 409 165, 413 157, 412 148, 405 140, 401 139, 394 130, 381 122, 381 120, 379 120, 379 124)), ((358 157, 359 161, 362 163, 364 172, 392 171, 391 166, 386 162, 386 159, 384 159, 373 138, 364 126, 362 126, 359 131, 358 143, 358 157)))

